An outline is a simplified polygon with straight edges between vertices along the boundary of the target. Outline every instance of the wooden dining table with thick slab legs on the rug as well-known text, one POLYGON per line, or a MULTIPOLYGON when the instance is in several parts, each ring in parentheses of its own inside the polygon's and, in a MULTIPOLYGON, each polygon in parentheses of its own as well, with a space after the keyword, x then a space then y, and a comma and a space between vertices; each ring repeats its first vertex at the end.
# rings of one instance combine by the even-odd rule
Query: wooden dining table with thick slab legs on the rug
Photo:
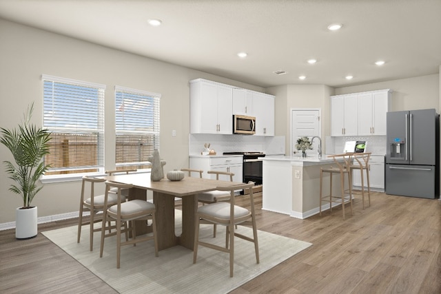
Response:
MULTIPOLYGON (((158 250, 181 245, 193 250, 194 224, 198 207, 197 194, 214 191, 216 187, 240 185, 240 182, 212 180, 207 178, 185 177, 183 180, 171 181, 163 178, 154 182, 150 174, 121 174, 105 176, 106 180, 131 184, 129 199, 147 199, 147 190, 153 191, 153 203, 156 206, 156 229, 158 232, 158 250), (177 236, 174 227, 175 198, 182 199, 182 233, 177 236)), ((147 233, 144 222, 136 222, 136 235, 147 233)))

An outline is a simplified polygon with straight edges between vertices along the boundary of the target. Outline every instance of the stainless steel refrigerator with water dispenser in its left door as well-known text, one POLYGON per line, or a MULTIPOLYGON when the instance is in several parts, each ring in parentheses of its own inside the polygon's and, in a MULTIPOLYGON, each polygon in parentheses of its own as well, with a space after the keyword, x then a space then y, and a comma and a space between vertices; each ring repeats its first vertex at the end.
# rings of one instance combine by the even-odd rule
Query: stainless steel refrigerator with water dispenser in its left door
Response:
POLYGON ((387 113, 387 194, 440 196, 439 118, 435 109, 387 113))

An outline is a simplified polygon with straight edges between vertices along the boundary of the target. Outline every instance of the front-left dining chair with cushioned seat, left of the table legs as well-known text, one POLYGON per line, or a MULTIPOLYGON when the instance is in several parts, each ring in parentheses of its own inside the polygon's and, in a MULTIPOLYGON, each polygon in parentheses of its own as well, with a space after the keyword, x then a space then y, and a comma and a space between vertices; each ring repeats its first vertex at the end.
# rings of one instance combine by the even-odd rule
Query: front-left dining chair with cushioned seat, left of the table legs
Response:
POLYGON ((105 197, 104 197, 104 205, 108 203, 108 200, 112 197, 110 189, 116 188, 116 204, 110 206, 108 209, 103 211, 103 224, 101 227, 101 246, 99 257, 103 257, 104 250, 104 239, 107 237, 111 237, 116 235, 116 269, 120 267, 121 260, 121 246, 133 244, 136 246, 136 243, 154 240, 154 251, 155 256, 158 257, 158 239, 156 233, 156 208, 153 203, 147 202, 146 200, 130 200, 123 201, 124 196, 122 195, 123 189, 130 189, 132 185, 130 184, 122 184, 117 182, 105 181, 105 197), (148 220, 151 220, 152 223, 150 226, 152 227, 153 234, 148 234, 140 238, 136 238, 136 226, 134 225, 134 220, 145 220, 145 223, 148 225, 148 220), (110 233, 105 233, 106 227, 105 223, 115 221, 116 222, 116 231, 112 231, 110 233), (125 222, 130 222, 130 225, 122 229, 123 224, 125 222), (131 239, 125 240, 125 242, 121 242, 121 233, 131 233, 131 239))

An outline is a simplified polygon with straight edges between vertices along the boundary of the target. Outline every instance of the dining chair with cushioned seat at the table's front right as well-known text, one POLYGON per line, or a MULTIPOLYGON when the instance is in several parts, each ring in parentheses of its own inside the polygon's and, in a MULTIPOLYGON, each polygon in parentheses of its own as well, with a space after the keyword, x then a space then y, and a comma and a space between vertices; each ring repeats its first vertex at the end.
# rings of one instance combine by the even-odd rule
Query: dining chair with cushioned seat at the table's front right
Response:
POLYGON ((196 263, 198 256, 198 246, 205 246, 210 249, 223 251, 229 253, 229 276, 234 275, 234 237, 247 240, 254 243, 254 251, 256 253, 256 263, 259 263, 259 248, 256 227, 256 215, 254 210, 254 196, 253 189, 254 182, 247 184, 234 185, 230 187, 216 187, 218 191, 227 191, 230 194, 229 201, 214 202, 198 207, 196 212, 196 231, 194 232, 194 249, 193 249, 193 263, 196 263), (249 205, 251 211, 235 205, 234 191, 235 190, 249 190, 249 205), (209 242, 199 240, 199 230, 201 223, 211 223, 223 225, 227 228, 225 247, 218 246, 209 242), (236 225, 252 225, 253 236, 243 235, 235 231, 236 225))

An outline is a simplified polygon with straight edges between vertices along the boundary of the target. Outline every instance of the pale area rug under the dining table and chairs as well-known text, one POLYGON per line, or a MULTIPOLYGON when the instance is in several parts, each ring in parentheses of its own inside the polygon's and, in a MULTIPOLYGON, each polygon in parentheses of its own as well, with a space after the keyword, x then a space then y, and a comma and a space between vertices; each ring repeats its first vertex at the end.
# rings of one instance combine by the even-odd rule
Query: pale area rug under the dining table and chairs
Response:
MULTIPOLYGON (((176 211, 176 231, 181 230, 181 211, 176 211)), ((238 227, 240 233, 252 236, 252 229, 238 227)), ((81 242, 76 243, 77 226, 45 231, 49 240, 79 261, 119 293, 228 293, 280 262, 307 249, 311 243, 258 231, 260 264, 256 264, 254 244, 235 238, 234 277, 229 277, 227 253, 199 246, 198 260, 193 264, 193 251, 174 246, 154 256, 153 242, 121 248, 121 268, 116 269, 116 238, 106 238, 103 258, 99 258, 99 235, 94 235, 94 251, 89 251, 89 230, 83 226, 81 242)), ((225 228, 201 225, 201 238, 225 243, 225 228)))

